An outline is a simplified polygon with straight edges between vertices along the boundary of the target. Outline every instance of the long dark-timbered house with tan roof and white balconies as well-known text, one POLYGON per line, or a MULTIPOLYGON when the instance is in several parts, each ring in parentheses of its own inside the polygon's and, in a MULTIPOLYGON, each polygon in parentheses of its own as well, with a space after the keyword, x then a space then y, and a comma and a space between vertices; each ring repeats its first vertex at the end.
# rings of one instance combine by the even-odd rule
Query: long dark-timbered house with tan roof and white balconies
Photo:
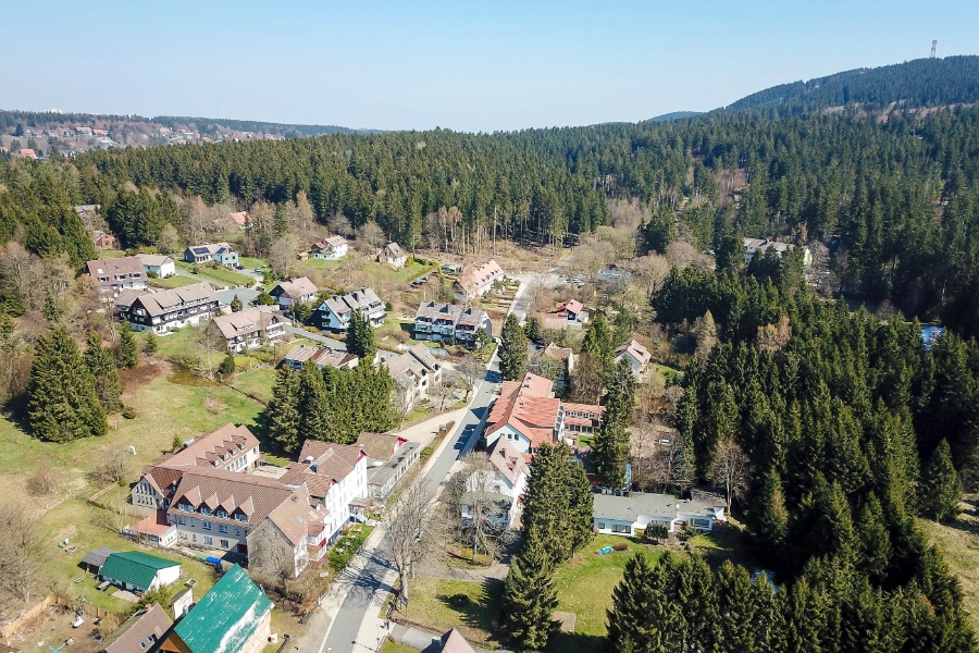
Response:
POLYGON ((214 287, 203 282, 171 291, 123 291, 115 299, 115 311, 135 331, 166 335, 187 325, 207 322, 220 308, 214 287))

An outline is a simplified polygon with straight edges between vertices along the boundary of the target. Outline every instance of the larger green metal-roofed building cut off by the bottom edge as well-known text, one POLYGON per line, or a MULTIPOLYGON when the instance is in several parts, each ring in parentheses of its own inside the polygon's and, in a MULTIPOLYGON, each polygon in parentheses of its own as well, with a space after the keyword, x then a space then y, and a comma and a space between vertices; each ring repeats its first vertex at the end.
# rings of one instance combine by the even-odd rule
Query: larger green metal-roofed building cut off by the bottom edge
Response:
POLYGON ((190 653, 237 653, 271 612, 269 597, 234 565, 174 632, 190 653))

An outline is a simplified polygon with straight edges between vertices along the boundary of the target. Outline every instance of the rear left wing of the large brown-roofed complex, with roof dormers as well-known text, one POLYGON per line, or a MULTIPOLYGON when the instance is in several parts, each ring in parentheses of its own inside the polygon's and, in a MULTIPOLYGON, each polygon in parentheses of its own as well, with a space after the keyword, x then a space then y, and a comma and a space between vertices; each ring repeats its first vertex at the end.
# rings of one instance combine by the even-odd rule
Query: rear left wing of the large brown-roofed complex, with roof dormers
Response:
POLYGON ((147 466, 142 478, 133 486, 132 502, 134 506, 165 510, 185 471, 220 469, 247 472, 258 464, 258 439, 248 427, 228 423, 213 433, 188 440, 178 451, 147 466))

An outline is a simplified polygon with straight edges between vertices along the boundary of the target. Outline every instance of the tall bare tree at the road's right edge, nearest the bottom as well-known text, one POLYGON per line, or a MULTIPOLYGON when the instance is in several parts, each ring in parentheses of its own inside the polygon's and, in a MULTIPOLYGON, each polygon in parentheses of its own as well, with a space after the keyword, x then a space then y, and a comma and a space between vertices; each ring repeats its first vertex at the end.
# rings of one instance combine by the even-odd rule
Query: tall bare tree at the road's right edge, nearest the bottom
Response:
POLYGON ((409 582, 424 558, 435 549, 435 529, 432 528, 435 496, 424 477, 406 479, 408 482, 387 507, 384 518, 391 556, 401 580, 400 596, 407 602, 409 582))

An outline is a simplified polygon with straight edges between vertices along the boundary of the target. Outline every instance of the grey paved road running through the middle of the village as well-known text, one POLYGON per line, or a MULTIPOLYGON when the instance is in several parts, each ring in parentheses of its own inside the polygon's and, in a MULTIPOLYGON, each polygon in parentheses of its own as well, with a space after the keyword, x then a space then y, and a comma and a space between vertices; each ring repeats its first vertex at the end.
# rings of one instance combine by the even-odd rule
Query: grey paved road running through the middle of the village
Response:
MULTIPOLYGON (((528 304, 523 293, 526 284, 521 284, 511 308, 511 311, 521 319, 528 304)), ((472 402, 469 404, 469 410, 456 426, 455 431, 449 435, 448 443, 442 448, 442 452, 429 468, 425 480, 433 488, 437 488, 445 481, 453 464, 475 446, 479 435, 485 426, 485 420, 490 415, 490 405, 499 392, 501 381, 499 358, 494 355, 483 381, 475 389, 472 402)), ((310 649, 313 653, 325 653, 326 651, 331 653, 352 653, 355 650, 359 651, 361 648, 364 648, 364 644, 358 643, 358 633, 361 632, 367 620, 374 616, 370 614, 372 609, 377 609, 376 593, 387 593, 392 589, 384 583, 385 575, 394 570, 394 566, 388 562, 386 547, 387 540, 384 538, 372 551, 363 552, 368 556, 365 564, 350 565, 349 576, 345 579, 350 583, 350 591, 340 604, 332 623, 325 614, 317 615, 307 637, 303 639, 303 642, 318 641, 318 638, 321 637, 319 633, 329 630, 325 640, 319 640, 323 642, 320 648, 310 649)), ((363 638, 361 637, 362 640, 363 638)))

